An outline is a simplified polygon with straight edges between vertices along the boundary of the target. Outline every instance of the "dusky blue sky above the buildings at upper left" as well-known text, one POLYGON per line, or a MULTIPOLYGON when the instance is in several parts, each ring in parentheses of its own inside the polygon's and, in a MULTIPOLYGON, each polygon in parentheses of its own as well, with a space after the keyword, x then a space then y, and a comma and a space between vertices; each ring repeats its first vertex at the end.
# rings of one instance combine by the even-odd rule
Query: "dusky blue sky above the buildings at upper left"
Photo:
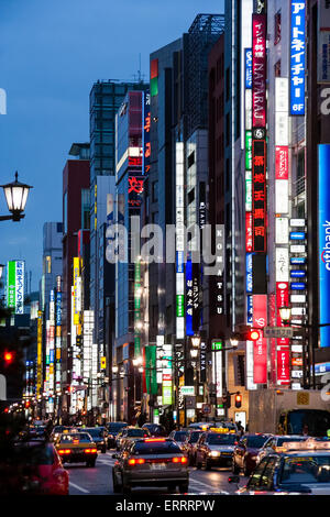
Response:
MULTIPOLYGON (((42 231, 62 220, 62 172, 73 142, 89 139, 89 91, 98 79, 133 80, 148 56, 223 0, 1 0, 0 184, 33 185, 26 216, 0 223, 0 263, 25 258, 32 289, 42 274, 42 231)), ((2 190, 2 189, 1 189, 2 190)), ((8 213, 0 193, 0 215, 8 213)))

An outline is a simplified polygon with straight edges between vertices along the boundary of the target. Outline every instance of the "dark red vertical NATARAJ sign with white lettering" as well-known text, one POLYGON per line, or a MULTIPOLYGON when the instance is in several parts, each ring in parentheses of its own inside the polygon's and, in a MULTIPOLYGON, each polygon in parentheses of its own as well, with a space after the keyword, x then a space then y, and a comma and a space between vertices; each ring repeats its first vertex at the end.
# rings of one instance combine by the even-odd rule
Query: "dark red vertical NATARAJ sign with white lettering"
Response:
POLYGON ((267 16, 252 15, 252 125, 266 127, 267 16))

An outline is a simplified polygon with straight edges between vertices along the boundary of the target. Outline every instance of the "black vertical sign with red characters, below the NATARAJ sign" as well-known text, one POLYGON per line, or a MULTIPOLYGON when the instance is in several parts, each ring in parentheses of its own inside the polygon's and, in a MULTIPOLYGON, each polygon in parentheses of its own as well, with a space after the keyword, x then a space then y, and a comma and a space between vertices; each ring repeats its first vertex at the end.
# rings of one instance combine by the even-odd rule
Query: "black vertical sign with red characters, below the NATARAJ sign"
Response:
POLYGON ((253 251, 267 250, 266 141, 252 141, 253 251))

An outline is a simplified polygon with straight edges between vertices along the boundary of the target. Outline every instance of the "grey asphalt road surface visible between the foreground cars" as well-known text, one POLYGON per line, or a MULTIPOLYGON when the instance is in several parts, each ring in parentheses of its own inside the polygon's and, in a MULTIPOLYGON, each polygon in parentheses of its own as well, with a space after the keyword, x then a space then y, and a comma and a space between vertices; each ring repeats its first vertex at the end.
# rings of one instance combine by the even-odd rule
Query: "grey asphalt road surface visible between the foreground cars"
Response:
MULTIPOLYGON (((106 454, 99 453, 96 466, 86 468, 85 464, 67 464, 65 468, 69 473, 69 495, 112 495, 112 465, 114 451, 108 451, 106 454)), ((237 485, 228 483, 231 470, 213 468, 211 471, 197 470, 190 468, 190 481, 188 494, 219 494, 224 491, 233 494, 237 485)), ((244 485, 246 477, 241 477, 241 485, 244 485)), ((133 488, 134 494, 169 494, 167 488, 133 488)), ((176 492, 178 493, 178 492, 176 492)))

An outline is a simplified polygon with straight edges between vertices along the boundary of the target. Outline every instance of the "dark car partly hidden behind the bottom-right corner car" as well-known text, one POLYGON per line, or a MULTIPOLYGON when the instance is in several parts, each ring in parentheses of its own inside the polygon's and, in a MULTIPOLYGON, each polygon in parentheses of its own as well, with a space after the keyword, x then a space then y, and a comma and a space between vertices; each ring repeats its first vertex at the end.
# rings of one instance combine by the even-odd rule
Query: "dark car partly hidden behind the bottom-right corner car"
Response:
POLYGON ((238 474, 243 471, 250 475, 257 463, 257 454, 270 438, 270 435, 244 435, 235 446, 232 455, 232 472, 238 474))

